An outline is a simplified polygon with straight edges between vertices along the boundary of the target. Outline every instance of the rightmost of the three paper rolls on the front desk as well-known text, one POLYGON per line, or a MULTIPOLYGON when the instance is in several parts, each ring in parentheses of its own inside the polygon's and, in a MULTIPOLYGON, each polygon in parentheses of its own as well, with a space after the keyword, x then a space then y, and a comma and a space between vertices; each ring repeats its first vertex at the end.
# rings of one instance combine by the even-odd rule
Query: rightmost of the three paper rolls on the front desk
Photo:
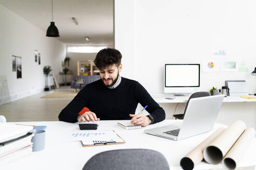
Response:
POLYGON ((225 156, 222 165, 226 169, 235 169, 239 163, 242 155, 244 155, 246 149, 250 145, 252 139, 254 138, 255 130, 253 128, 248 128, 236 141, 235 145, 228 151, 225 156))

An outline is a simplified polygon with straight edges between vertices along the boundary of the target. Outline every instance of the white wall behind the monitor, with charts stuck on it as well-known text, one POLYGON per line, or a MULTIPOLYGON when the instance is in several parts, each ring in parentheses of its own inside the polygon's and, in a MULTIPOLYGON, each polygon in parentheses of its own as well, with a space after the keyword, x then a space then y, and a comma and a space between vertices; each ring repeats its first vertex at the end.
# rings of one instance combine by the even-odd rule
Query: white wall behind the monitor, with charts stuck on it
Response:
MULTIPOLYGON (((123 76, 139 80, 150 94, 163 94, 164 63, 200 63, 215 48, 227 60, 246 61, 249 72, 201 72, 201 91, 225 80, 246 80, 256 92, 255 1, 115 1, 116 48, 123 76), (135 48, 136 47, 136 48, 135 48), (134 73, 135 72, 135 73, 134 73)), ((201 70, 202 71, 202 70, 201 70)))

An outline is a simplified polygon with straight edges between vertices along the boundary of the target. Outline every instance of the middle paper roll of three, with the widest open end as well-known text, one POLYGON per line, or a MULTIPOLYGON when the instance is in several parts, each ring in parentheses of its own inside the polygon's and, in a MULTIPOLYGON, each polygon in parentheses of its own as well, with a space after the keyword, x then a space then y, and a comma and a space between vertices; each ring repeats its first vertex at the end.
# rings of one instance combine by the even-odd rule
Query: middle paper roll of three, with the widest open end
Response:
POLYGON ((246 124, 241 120, 227 127, 203 150, 204 160, 211 164, 219 164, 245 129, 247 129, 246 124))

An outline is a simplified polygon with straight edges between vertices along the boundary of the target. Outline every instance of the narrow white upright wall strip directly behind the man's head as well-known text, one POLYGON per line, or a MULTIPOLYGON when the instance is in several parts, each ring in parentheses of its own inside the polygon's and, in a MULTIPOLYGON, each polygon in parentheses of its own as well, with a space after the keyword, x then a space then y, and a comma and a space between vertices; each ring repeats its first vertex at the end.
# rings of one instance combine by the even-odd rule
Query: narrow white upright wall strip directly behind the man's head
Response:
POLYGON ((135 1, 114 2, 114 41, 115 48, 122 54, 121 76, 135 79, 136 61, 136 10, 135 1))

